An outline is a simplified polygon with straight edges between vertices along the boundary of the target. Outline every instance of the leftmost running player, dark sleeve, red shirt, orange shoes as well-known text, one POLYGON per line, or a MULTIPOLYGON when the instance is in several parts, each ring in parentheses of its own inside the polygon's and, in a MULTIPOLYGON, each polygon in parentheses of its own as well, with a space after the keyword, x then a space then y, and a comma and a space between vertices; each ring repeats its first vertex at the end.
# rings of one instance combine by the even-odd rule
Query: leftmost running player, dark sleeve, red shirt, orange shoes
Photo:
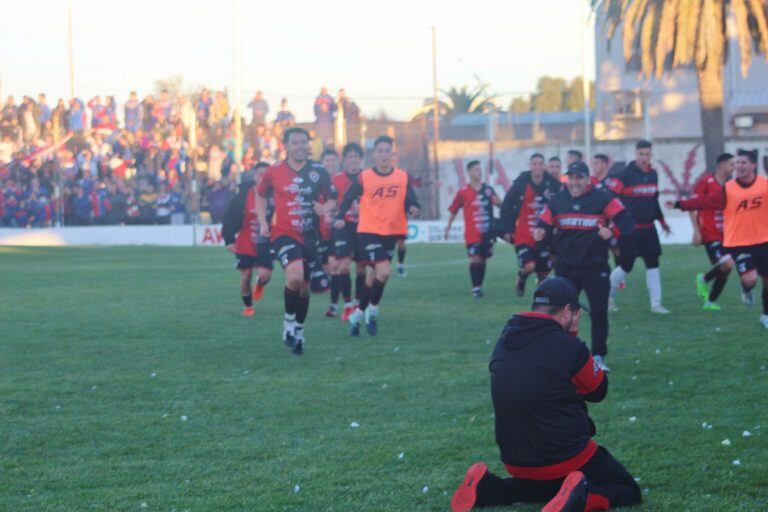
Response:
MULTIPOLYGON (((240 190, 232 198, 221 228, 221 235, 227 250, 235 255, 236 268, 240 272, 240 293, 243 299, 243 315, 253 316, 253 303, 264 295, 264 287, 272 277, 272 251, 269 238, 261 236, 261 219, 256 215, 256 184, 269 167, 259 162, 253 171, 243 173, 240 190), (256 272, 256 286, 251 289, 253 269, 256 272)), ((272 205, 267 204, 267 216, 272 214, 272 205)), ((269 221, 267 221, 268 223, 269 221)))

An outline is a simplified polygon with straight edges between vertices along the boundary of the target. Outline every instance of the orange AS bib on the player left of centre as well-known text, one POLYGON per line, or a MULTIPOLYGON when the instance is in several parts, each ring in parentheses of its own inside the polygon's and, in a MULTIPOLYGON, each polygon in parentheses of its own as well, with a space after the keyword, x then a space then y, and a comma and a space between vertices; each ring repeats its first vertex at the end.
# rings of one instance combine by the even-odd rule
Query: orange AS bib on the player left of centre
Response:
POLYGON ((360 173, 360 221, 358 233, 376 235, 405 235, 408 220, 405 216, 405 196, 408 191, 408 174, 394 169, 386 176, 373 169, 360 173))

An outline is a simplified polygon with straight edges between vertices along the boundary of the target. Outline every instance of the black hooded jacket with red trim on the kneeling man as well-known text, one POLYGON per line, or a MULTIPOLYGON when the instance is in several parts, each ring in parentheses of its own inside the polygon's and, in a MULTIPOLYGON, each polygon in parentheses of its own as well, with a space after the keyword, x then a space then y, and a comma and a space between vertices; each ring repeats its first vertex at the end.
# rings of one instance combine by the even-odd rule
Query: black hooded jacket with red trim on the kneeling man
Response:
POLYGON ((513 316, 491 355, 491 396, 501 460, 517 478, 562 478, 594 455, 599 402, 608 380, 586 345, 551 316, 513 316))

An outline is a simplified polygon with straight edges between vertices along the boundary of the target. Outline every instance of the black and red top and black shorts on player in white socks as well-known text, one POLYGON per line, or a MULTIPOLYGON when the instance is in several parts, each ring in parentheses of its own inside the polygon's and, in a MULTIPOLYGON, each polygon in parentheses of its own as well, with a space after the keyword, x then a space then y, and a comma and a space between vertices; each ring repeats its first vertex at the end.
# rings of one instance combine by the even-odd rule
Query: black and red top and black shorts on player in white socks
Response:
POLYGON ((641 169, 632 161, 606 178, 604 184, 621 199, 635 221, 635 231, 620 240, 621 268, 631 271, 638 256, 643 258, 646 268, 658 268, 661 242, 654 222, 658 220, 666 226, 659 204, 659 175, 653 168, 641 169))

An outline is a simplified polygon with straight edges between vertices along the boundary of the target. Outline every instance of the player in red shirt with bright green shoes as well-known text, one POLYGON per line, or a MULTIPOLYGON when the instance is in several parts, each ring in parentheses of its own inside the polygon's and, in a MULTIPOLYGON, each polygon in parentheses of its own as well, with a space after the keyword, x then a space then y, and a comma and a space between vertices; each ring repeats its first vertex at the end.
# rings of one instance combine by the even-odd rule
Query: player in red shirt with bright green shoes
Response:
MULTIPOLYGON (((733 169, 732 154, 723 153, 718 156, 715 172, 701 177, 693 189, 693 197, 722 195, 725 183, 733 176, 733 169)), ((680 202, 687 203, 687 201, 680 202)), ((696 292, 704 301, 705 310, 719 311, 720 305, 715 301, 725 288, 728 275, 733 268, 733 258, 723 248, 723 212, 722 210, 700 210, 696 213, 696 222, 693 224, 696 238, 704 244, 709 262, 713 265, 706 273, 696 274, 696 292), (712 284, 711 289, 709 283, 712 284)))

